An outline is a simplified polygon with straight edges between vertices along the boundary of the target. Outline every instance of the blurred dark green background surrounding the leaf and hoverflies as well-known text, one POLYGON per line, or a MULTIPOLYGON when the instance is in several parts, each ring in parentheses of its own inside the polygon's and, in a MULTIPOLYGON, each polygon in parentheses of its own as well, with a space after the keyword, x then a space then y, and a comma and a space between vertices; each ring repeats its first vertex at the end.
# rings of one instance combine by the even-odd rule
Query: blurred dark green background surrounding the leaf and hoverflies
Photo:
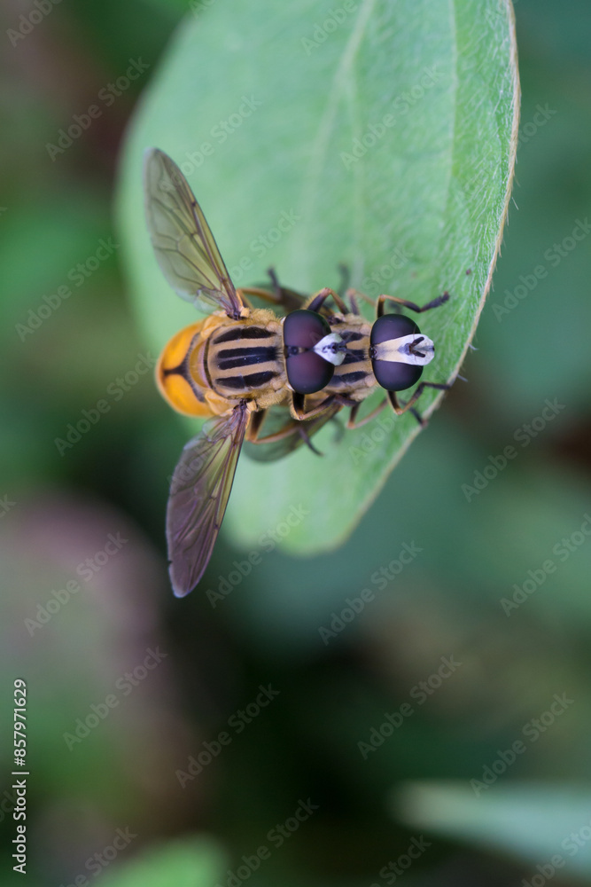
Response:
MULTIPOLYGON (((186 5, 48 0, 16 43, 21 4, 0 13, 2 883, 16 678, 27 883, 591 883, 591 258, 572 238, 591 209, 591 9, 516 4, 514 205, 468 383, 345 546, 267 546, 212 607, 169 590, 186 430, 144 373, 113 225, 121 138, 186 5), (420 552, 378 581, 405 545, 420 552)), ((203 587, 247 555, 222 534, 203 587)))

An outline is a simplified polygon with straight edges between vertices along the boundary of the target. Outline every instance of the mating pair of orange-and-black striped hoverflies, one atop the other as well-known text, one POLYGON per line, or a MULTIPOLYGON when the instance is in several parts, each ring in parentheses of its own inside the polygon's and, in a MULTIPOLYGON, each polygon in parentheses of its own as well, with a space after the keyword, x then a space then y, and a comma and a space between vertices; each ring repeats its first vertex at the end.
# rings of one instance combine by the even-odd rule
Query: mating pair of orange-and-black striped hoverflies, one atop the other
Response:
POLYGON ((385 314, 384 305, 392 300, 420 312, 448 296, 422 309, 380 296, 372 325, 362 318, 354 291, 350 312, 328 287, 308 300, 279 287, 274 277, 271 290, 236 289, 183 173, 155 148, 145 154, 144 195, 160 270, 183 299, 210 311, 172 337, 156 366, 168 404, 209 419, 185 445, 168 498, 169 572, 175 595, 182 597, 206 569, 245 440, 278 444, 270 447, 270 458, 302 442, 314 450, 309 438, 318 428, 343 406, 351 407, 348 426, 355 427, 362 400, 379 386, 388 390, 395 412, 411 410, 422 421, 413 408, 417 397, 427 386, 447 386, 422 382, 403 405, 395 391, 418 381, 432 360, 433 343, 409 318, 385 314), (336 313, 326 304, 330 296, 336 313), (286 314, 278 318, 272 310, 254 308, 249 297, 275 303, 286 314), (265 417, 278 408, 283 412, 277 430, 261 436, 265 417))

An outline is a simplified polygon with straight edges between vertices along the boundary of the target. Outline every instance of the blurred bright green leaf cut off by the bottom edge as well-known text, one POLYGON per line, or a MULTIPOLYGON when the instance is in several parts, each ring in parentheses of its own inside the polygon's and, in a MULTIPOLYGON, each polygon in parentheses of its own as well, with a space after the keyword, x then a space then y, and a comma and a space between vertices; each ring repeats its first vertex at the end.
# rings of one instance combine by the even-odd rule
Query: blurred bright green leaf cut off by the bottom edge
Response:
POLYGON ((103 875, 105 887, 211 887, 227 861, 209 837, 185 838, 141 853, 103 875))

